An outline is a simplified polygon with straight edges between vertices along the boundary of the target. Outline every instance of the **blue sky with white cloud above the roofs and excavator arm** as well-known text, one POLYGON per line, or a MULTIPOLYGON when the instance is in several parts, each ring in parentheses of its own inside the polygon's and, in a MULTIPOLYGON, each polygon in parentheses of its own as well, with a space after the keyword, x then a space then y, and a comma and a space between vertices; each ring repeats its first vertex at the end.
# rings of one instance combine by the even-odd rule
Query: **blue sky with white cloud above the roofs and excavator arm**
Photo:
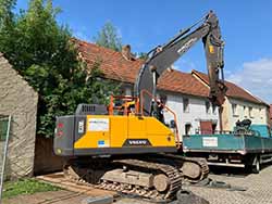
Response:
MULTIPOLYGON (((148 52, 164 43, 180 29, 191 25, 209 10, 220 20, 225 40, 225 75, 265 102, 272 102, 272 1, 258 0, 54 0, 62 9, 60 24, 74 36, 91 41, 110 21, 123 43, 134 52, 148 52)), ((16 9, 26 9, 17 0, 16 9)), ((198 42, 175 63, 183 72, 206 72, 202 43, 198 42)))

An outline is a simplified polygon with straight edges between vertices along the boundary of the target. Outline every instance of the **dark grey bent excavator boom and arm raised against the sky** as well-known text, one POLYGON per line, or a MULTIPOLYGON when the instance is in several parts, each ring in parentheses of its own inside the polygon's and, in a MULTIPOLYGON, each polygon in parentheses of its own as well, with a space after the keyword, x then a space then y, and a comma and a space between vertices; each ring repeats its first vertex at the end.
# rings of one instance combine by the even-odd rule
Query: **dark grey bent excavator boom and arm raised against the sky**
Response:
POLYGON ((135 95, 139 97, 140 103, 143 103, 145 115, 152 115, 153 105, 157 104, 150 97, 145 97, 145 100, 140 99, 141 91, 147 90, 156 97, 156 86, 161 74, 200 39, 202 39, 206 51, 210 82, 209 98, 214 105, 220 106, 224 102, 226 91, 223 78, 224 42, 221 40, 218 17, 210 11, 205 17, 187 29, 182 30, 168 43, 159 46, 148 53, 148 60, 140 68, 134 87, 135 95), (200 22, 202 24, 191 31, 200 22))

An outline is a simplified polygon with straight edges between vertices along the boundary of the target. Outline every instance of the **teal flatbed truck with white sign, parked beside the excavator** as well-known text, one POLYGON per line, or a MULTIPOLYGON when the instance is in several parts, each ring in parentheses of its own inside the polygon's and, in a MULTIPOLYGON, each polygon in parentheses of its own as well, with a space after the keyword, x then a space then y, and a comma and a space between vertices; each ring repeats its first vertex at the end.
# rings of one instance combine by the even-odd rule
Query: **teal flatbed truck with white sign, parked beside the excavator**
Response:
POLYGON ((206 157, 209 165, 245 167, 258 174, 261 164, 272 162, 270 128, 240 124, 236 123, 234 131, 184 136, 185 155, 206 157))

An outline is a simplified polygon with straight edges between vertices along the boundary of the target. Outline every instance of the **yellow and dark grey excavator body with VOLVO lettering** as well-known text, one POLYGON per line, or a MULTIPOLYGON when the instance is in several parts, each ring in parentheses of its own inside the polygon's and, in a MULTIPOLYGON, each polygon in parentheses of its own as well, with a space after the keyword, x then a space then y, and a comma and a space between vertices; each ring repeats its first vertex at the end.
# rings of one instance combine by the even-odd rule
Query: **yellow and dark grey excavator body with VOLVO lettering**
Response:
POLYGON ((63 156, 176 152, 175 136, 151 116, 57 117, 54 152, 63 156))

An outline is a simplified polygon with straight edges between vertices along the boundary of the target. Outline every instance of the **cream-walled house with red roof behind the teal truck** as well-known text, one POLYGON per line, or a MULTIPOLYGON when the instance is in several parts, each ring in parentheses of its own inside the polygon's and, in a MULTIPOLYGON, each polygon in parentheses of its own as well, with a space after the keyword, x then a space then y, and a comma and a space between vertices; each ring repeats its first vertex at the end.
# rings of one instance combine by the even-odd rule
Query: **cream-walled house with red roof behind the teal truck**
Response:
MULTIPOLYGON (((191 75, 209 87, 208 75, 191 71, 191 75)), ((270 124, 269 104, 237 85, 225 81, 227 87, 223 104, 223 129, 232 130, 237 120, 250 119, 252 124, 270 124)))

